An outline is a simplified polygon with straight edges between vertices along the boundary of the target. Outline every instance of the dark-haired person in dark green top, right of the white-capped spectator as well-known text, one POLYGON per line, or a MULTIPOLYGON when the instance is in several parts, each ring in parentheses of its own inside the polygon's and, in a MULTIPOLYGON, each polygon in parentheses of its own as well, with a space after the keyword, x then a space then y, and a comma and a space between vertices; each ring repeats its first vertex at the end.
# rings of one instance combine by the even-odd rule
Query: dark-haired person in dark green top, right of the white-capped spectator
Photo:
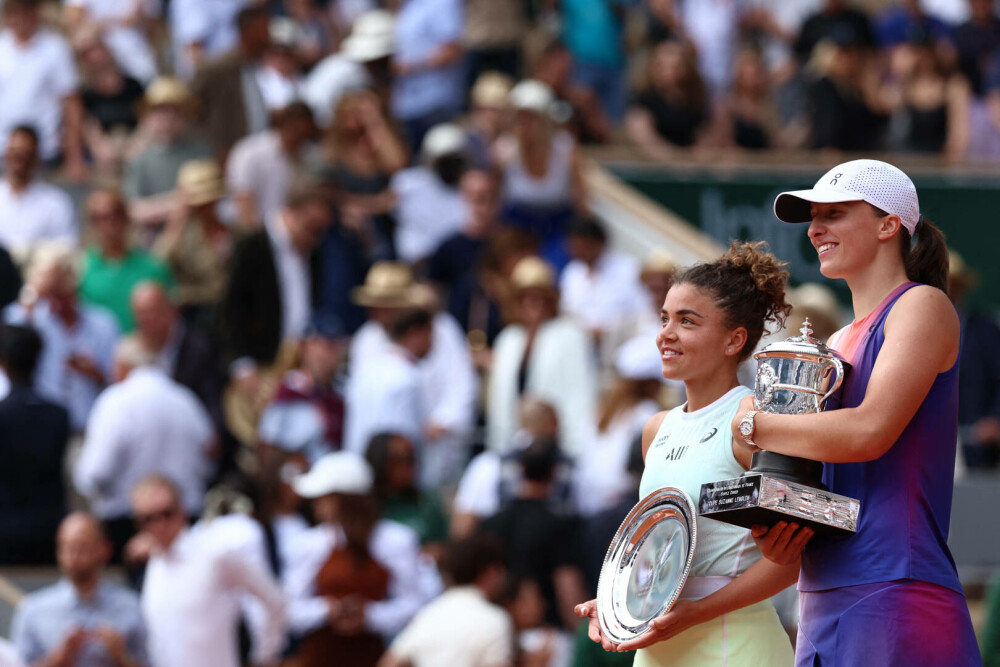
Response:
POLYGON ((372 436, 366 454, 375 471, 375 495, 382 518, 409 526, 420 536, 424 551, 440 556, 448 539, 448 520, 437 495, 417 488, 416 452, 405 436, 372 436))

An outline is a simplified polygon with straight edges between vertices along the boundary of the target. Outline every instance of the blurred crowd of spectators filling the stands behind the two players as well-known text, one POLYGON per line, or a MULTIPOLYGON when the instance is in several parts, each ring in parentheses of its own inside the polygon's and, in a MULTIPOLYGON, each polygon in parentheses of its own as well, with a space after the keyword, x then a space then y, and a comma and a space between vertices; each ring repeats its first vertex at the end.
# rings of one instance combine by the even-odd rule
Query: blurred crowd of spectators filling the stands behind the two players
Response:
POLYGON ((1000 160, 988 0, 0 8, 0 564, 64 575, 26 664, 621 664, 572 609, 684 399, 678 267, 580 146, 1000 160))

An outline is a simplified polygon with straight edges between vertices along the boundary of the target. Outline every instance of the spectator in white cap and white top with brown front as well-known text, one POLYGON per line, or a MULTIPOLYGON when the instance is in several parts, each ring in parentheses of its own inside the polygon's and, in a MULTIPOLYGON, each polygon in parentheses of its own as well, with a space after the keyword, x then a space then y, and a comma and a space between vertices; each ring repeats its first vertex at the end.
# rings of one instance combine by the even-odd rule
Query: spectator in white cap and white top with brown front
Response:
POLYGON ((440 592, 416 532, 378 518, 373 483, 367 461, 349 451, 327 454, 292 482, 321 522, 300 535, 286 576, 289 625, 304 635, 304 665, 328 664, 323 647, 350 652, 354 660, 341 655, 344 664, 373 664, 382 640, 440 592))

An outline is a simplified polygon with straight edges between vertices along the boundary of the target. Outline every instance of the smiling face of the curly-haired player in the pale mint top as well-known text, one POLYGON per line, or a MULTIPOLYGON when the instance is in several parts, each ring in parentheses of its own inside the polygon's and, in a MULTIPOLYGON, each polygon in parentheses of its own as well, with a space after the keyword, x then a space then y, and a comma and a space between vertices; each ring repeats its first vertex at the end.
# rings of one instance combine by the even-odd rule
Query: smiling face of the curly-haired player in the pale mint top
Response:
POLYGON ((656 347, 663 377, 689 382, 734 366, 746 342, 746 329, 730 329, 726 313, 711 292, 678 283, 667 292, 660 311, 656 347))

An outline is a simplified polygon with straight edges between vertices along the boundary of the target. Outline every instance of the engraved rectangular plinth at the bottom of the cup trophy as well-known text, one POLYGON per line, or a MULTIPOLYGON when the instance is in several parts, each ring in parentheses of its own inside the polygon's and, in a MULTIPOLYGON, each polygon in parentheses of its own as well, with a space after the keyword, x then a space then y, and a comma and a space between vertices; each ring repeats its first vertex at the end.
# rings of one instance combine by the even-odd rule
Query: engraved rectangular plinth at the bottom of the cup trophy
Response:
POLYGON ((750 472, 701 485, 698 515, 750 528, 779 521, 808 526, 818 535, 853 535, 861 503, 805 484, 750 472))

